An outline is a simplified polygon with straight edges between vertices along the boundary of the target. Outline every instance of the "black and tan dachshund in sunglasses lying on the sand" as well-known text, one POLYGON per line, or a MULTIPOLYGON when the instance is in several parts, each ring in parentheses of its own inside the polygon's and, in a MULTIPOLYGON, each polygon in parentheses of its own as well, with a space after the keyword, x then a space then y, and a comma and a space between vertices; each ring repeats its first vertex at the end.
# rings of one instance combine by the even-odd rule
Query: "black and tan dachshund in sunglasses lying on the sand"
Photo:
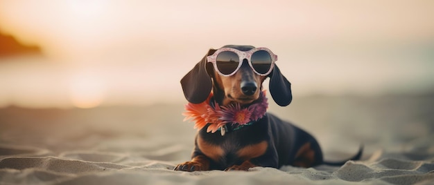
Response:
MULTIPOLYGON (((192 106, 207 106, 203 111, 210 107, 216 108, 213 113, 224 113, 229 108, 247 111, 252 105, 263 104, 266 97, 262 84, 270 77, 268 90, 272 99, 279 106, 288 106, 293 99, 291 84, 281 74, 276 60, 277 55, 268 48, 228 45, 218 50, 211 49, 182 78, 184 96, 192 106)), ((212 119, 211 116, 202 120, 202 125, 196 123, 200 129, 191 161, 177 165, 175 171, 248 171, 255 166, 309 168, 320 164, 342 165, 347 160, 360 159, 363 151, 361 146, 350 159, 324 162, 320 145, 312 135, 271 113, 261 112, 243 124, 222 122, 221 119, 212 119), (220 121, 220 125, 207 122, 209 120, 220 121)))

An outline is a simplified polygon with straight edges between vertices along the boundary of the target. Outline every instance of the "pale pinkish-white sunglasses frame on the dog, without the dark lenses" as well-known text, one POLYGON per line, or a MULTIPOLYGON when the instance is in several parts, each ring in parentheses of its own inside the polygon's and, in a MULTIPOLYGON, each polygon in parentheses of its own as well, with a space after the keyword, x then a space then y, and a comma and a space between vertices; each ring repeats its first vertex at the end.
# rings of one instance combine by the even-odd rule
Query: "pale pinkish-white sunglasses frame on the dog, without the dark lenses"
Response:
POLYGON ((223 77, 229 77, 229 76, 234 75, 241 68, 241 66, 243 65, 243 59, 248 60, 248 64, 249 64, 250 68, 252 68, 254 73, 256 73, 257 75, 260 75, 260 76, 266 76, 266 75, 269 75, 270 72, 272 71, 272 69, 274 68, 275 61, 277 61, 277 55, 272 53, 271 50, 268 48, 253 48, 252 50, 248 50, 248 51, 241 51, 241 50, 237 50, 235 48, 220 48, 220 49, 216 50, 216 52, 214 52, 213 55, 209 55, 207 57, 207 62, 211 62, 213 64, 214 68, 218 72, 218 75, 222 75, 223 77), (261 73, 257 72, 256 70, 254 70, 254 68, 252 66, 252 61, 250 60, 252 58, 253 53, 257 52, 259 50, 264 50, 264 51, 268 52, 270 54, 270 57, 271 57, 270 70, 268 70, 268 72, 266 72, 264 74, 261 74, 261 73), (223 74, 217 68, 217 56, 218 56, 218 54, 220 54, 220 52, 225 52, 225 51, 235 52, 236 55, 238 55, 238 57, 239 57, 238 67, 236 67, 234 72, 232 72, 228 75, 223 74))

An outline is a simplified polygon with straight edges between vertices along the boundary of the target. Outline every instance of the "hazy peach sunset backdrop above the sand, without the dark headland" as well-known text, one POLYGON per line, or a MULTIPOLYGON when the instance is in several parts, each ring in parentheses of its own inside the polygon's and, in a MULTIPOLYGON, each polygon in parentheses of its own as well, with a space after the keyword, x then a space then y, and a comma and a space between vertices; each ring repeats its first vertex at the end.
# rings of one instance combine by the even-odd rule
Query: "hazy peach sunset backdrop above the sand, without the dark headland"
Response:
POLYGON ((184 102, 209 48, 270 48, 295 96, 434 89, 434 1, 0 0, 0 107, 184 102), (1 43, 0 43, 1 44, 1 43))

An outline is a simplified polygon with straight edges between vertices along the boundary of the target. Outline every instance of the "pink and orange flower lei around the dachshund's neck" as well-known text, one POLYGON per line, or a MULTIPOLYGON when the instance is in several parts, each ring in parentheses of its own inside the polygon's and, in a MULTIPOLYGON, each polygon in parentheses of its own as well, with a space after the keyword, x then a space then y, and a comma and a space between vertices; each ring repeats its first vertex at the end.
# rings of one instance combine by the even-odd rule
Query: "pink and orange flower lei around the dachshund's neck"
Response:
POLYGON ((215 133, 228 123, 242 126, 249 124, 250 121, 257 121, 266 115, 268 108, 265 90, 261 92, 259 99, 254 104, 245 108, 242 108, 241 104, 219 106, 216 101, 214 101, 215 106, 213 107, 210 105, 211 97, 213 97, 212 93, 209 94, 207 100, 200 104, 186 104, 186 112, 182 113, 185 116, 184 121, 192 119, 191 121, 195 121, 194 128, 198 130, 210 124, 207 133, 215 133))

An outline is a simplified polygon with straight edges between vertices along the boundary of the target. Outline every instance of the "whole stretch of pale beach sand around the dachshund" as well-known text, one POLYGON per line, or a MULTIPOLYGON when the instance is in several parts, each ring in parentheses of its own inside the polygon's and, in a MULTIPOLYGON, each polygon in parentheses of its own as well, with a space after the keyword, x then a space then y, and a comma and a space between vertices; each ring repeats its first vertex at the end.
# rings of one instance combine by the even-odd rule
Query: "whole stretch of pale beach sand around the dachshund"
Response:
POLYGON ((182 104, 0 109, 0 184, 434 184, 434 97, 295 97, 270 112, 308 130, 343 166, 173 171, 196 130, 182 104))

